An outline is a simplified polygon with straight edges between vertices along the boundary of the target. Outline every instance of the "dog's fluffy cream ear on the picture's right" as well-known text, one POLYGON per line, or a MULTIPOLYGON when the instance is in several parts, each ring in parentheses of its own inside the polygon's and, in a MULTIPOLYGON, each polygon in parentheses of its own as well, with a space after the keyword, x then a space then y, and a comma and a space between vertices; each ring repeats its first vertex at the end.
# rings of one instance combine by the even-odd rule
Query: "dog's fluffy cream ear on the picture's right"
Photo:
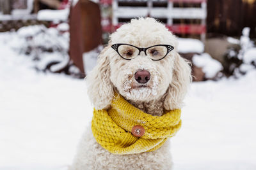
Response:
POLYGON ((191 66, 189 64, 187 60, 180 57, 179 53, 175 52, 172 82, 164 99, 165 110, 174 110, 182 107, 182 101, 192 80, 191 66))

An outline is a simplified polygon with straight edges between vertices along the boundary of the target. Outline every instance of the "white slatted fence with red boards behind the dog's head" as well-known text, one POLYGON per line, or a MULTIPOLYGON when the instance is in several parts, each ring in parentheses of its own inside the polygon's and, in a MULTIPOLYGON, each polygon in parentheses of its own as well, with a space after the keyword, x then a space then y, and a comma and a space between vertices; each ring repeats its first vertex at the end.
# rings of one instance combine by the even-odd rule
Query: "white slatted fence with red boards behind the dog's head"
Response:
MULTIPOLYGON (((154 6, 157 1, 140 1, 145 3, 144 6, 129 5, 136 1, 113 0, 113 17, 112 24, 114 27, 122 25, 120 20, 129 20, 136 17, 154 17, 166 20, 166 27, 177 34, 200 34, 201 38, 205 36, 205 20, 207 17, 207 0, 170 0, 158 1, 165 3, 164 6, 154 6), (125 5, 120 5, 124 3, 125 5), (188 4, 182 8, 179 4, 188 4), (189 4, 196 4, 189 6, 189 4), (174 23, 174 20, 200 20, 197 24, 174 23)), ((138 1, 137 1, 138 2, 138 1)))

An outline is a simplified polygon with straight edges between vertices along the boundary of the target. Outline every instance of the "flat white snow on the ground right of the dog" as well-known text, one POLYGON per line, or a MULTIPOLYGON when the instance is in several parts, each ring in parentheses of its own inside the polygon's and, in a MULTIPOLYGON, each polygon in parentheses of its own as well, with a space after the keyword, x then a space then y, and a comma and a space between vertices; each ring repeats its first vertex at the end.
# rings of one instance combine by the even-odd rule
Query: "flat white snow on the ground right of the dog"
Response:
POLYGON ((175 169, 256 169, 256 71, 193 83, 172 139, 175 169))

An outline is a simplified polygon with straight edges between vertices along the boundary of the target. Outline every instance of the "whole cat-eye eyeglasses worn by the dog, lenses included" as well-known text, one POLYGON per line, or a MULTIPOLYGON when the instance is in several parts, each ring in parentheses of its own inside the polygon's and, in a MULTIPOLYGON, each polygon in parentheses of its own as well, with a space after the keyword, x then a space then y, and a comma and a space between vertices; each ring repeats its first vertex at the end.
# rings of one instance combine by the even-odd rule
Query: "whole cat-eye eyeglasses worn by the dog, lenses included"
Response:
POLYGON ((152 60, 161 60, 174 49, 172 45, 153 45, 147 48, 139 48, 128 44, 115 44, 111 47, 125 60, 134 59, 140 55, 141 51, 152 60))

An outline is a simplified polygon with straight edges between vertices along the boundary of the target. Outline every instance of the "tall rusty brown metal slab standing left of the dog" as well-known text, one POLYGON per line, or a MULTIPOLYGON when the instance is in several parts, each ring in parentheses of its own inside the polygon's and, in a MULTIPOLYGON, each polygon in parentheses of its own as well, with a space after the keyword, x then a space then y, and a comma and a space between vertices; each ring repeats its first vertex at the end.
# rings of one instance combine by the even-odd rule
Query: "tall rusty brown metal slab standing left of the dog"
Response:
POLYGON ((100 8, 92 1, 80 0, 70 11, 70 57, 84 73, 83 53, 102 43, 100 8))

